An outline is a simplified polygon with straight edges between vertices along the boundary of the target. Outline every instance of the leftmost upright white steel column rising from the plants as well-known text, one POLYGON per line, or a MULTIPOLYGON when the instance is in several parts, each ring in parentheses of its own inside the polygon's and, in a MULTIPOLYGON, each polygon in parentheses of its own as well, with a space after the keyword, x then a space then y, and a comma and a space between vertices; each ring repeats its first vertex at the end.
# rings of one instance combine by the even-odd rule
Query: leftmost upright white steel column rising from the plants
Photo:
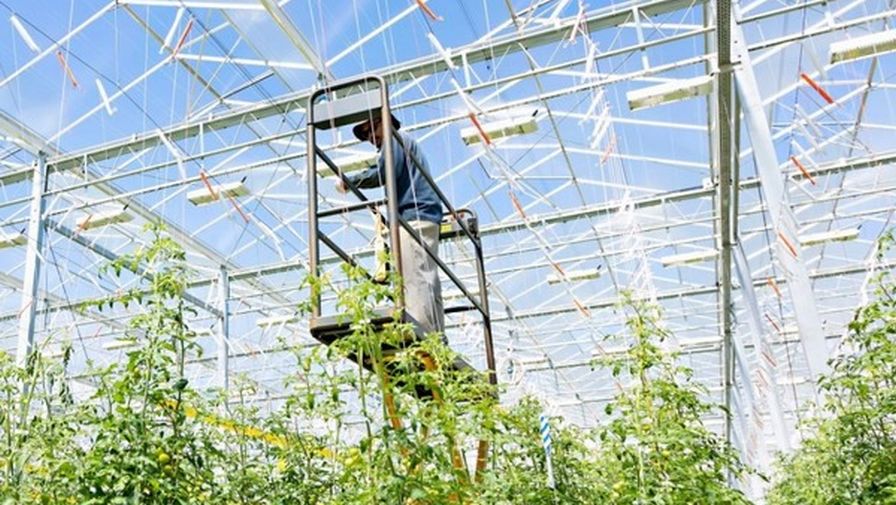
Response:
POLYGON ((37 285, 40 281, 41 254, 44 243, 44 186, 47 156, 37 154, 31 177, 31 210, 28 214, 28 246, 25 250, 25 275, 22 279, 22 303, 19 309, 19 341, 16 364, 24 366, 34 346, 34 316, 37 310, 37 285))

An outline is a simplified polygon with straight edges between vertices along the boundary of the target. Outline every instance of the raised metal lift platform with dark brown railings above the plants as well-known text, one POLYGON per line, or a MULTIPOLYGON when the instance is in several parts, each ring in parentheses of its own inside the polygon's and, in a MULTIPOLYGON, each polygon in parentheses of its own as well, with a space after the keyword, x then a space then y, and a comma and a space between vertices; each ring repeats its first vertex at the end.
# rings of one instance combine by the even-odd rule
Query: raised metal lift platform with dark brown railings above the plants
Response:
MULTIPOLYGON (((482 258, 482 245, 478 235, 478 223, 475 214, 472 211, 461 209, 456 210, 451 206, 447 197, 435 184, 431 175, 423 168, 419 160, 411 156, 411 161, 415 163, 425 177, 427 182, 435 189, 436 194, 442 200, 444 208, 448 209, 445 214, 440 230, 440 240, 468 238, 475 252, 476 269, 478 274, 478 289, 476 295, 468 290, 463 282, 448 268, 448 266, 438 258, 438 255, 426 248, 417 233, 400 217, 398 212, 398 202, 395 198, 396 182, 394 160, 392 159, 392 142, 401 142, 400 137, 395 135, 391 122, 392 114, 389 108, 388 89, 385 81, 377 76, 362 77, 341 83, 334 83, 321 88, 313 93, 309 99, 308 106, 308 215, 309 215, 309 268, 312 276, 319 275, 320 266, 320 244, 323 243, 330 250, 336 253, 342 261, 357 265, 354 258, 340 248, 332 239, 324 234, 319 222, 322 218, 335 216, 339 214, 347 214, 361 210, 376 211, 381 216, 385 215, 386 223, 389 229, 390 250, 394 258, 392 268, 397 269, 399 277, 401 277, 401 261, 398 257, 400 253, 400 234, 399 229, 404 228, 408 234, 433 258, 442 272, 444 272, 452 283, 463 293, 467 299, 467 303, 454 307, 447 307, 446 314, 462 311, 476 311, 482 316, 484 329, 484 343, 486 350, 486 362, 488 366, 488 381, 492 384, 497 382, 495 374, 494 349, 492 345, 491 334, 491 317, 488 310, 488 295, 485 280, 485 272, 482 258), (384 125, 382 152, 385 158, 385 198, 378 200, 369 200, 358 188, 354 187, 345 177, 343 171, 330 159, 329 156, 316 143, 316 130, 328 130, 338 128, 350 124, 356 124, 365 120, 379 117, 384 125), (330 170, 330 173, 341 177, 350 193, 355 195, 359 202, 336 208, 319 209, 319 193, 317 188, 318 177, 321 172, 318 171, 318 161, 322 161, 330 170), (380 209, 385 208, 385 214, 380 209)), ((381 349, 383 356, 389 356, 396 351, 407 347, 417 339, 423 337, 420 331, 420 325, 413 320, 403 309, 404 296, 401 289, 397 289, 398 299, 394 300, 391 307, 378 308, 375 310, 374 317, 371 318, 371 324, 375 330, 380 330, 386 325, 396 322, 407 323, 414 330, 408 335, 408 339, 404 343, 398 345, 387 345, 381 349), (400 314, 396 317, 396 314, 400 314)), ((310 317, 311 335, 323 344, 331 345, 341 338, 352 333, 351 322, 341 314, 321 313, 320 295, 312 297, 312 311, 310 317)), ((357 362, 357 356, 349 356, 350 359, 357 362)), ((365 368, 372 369, 372 364, 365 359, 362 365, 365 368)), ((387 372, 389 372, 388 360, 386 360, 387 372)), ((423 359, 422 361, 426 361, 423 359)), ((431 361, 431 360, 429 360, 431 361)), ((443 366, 445 366, 443 364, 443 366)), ((474 367, 463 358, 458 357, 450 365, 451 369, 458 372, 472 372, 474 367)), ((424 367, 421 364, 421 369, 424 367)), ((394 367, 393 367, 394 368, 394 367)), ((474 376, 474 374, 470 374, 474 376)), ((417 395, 419 397, 432 397, 433 392, 418 388, 417 395)))

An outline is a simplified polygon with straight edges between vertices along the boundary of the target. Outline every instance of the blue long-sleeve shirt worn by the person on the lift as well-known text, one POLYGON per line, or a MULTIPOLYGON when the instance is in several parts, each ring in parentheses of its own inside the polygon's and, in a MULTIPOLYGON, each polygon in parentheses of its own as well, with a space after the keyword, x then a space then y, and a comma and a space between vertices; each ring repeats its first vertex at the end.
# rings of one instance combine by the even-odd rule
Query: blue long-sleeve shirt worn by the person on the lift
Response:
MULTIPOLYGON (((413 139, 401 132, 396 132, 410 153, 413 154, 423 170, 429 173, 429 164, 413 139)), ((380 149, 380 157, 375 167, 368 168, 355 175, 349 175, 352 184, 360 188, 377 188, 386 184, 385 153, 380 149)), ((442 222, 442 203, 435 190, 418 170, 417 165, 406 155, 396 139, 392 139, 392 159, 395 163, 395 189, 398 193, 398 213, 405 221, 423 220, 433 223, 442 222)))

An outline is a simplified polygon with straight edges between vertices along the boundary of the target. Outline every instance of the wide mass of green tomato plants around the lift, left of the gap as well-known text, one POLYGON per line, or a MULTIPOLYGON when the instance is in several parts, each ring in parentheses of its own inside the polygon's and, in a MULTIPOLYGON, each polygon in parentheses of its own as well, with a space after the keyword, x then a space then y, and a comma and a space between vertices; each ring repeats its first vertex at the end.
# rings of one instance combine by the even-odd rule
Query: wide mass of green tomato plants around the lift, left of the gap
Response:
POLYGON ((136 313, 126 330, 136 347, 88 374, 89 398, 72 398, 70 350, 61 362, 35 353, 24 368, 0 353, 0 503, 745 501, 724 481, 741 470, 736 458, 700 424, 711 407, 656 346, 664 333, 655 314, 636 311, 635 345, 606 363, 637 379, 608 407, 610 424, 585 431, 552 419, 552 489, 543 406, 499 404, 483 375, 447 366, 457 356, 439 335, 411 338, 398 321, 374 328, 374 307, 395 293, 356 269, 346 269, 342 289, 327 279, 310 286, 335 291, 352 334, 329 347, 291 347, 296 372, 279 406, 249 401, 258 392, 249 379, 229 392, 197 390, 185 373, 187 357, 201 354, 187 325, 186 258, 161 227, 150 231, 148 246, 102 272, 141 285, 88 304, 136 313), (357 364, 337 366, 348 358, 357 364), (490 451, 477 470, 465 456, 480 444, 490 451))

